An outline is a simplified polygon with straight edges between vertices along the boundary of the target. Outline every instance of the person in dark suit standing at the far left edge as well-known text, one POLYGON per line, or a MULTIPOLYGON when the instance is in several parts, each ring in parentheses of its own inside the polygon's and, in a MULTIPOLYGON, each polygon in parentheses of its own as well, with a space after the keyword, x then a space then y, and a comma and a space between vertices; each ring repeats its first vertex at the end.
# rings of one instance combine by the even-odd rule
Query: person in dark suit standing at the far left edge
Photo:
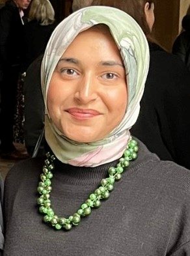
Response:
POLYGON ((23 52, 23 10, 31 0, 7 1, 0 9, 1 156, 16 154, 13 143, 14 109, 23 52))

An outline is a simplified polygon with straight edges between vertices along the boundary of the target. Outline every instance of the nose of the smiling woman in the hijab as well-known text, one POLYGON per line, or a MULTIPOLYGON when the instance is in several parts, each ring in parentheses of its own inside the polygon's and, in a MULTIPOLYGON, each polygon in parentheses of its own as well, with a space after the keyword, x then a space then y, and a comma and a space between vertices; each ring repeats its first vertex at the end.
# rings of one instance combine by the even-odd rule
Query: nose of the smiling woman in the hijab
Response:
POLYGON ((77 83, 75 91, 75 100, 80 104, 88 104, 91 101, 96 100, 98 97, 96 78, 91 73, 84 75, 77 83))

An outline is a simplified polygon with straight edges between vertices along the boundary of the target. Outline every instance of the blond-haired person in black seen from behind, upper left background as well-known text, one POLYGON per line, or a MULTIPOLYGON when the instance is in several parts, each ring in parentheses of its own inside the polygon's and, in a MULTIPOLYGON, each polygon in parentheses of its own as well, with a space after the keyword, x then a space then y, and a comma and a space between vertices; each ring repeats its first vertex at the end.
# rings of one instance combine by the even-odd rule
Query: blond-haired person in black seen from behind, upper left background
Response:
POLYGON ((25 59, 23 69, 46 49, 49 37, 56 27, 55 13, 49 0, 33 0, 29 10, 29 22, 24 27, 25 59))

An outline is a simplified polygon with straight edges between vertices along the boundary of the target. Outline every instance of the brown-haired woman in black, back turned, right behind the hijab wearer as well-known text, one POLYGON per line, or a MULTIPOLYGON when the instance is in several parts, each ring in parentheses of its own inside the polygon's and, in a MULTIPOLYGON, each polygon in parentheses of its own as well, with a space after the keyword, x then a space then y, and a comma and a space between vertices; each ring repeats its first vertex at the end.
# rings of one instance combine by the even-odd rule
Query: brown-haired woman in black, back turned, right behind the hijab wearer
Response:
POLYGON ((156 0, 94 0, 92 5, 123 10, 139 23, 148 38, 150 69, 132 134, 161 160, 190 169, 190 74, 178 57, 164 51, 151 36, 156 0))

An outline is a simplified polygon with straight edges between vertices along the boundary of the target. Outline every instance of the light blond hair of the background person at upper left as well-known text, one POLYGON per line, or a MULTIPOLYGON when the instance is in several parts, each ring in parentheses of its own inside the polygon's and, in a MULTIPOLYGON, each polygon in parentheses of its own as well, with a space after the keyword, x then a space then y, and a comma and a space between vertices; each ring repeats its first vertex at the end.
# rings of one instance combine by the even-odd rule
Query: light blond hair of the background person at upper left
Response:
POLYGON ((37 20, 40 25, 49 25, 55 21, 55 12, 49 0, 33 0, 29 10, 29 19, 37 20))

